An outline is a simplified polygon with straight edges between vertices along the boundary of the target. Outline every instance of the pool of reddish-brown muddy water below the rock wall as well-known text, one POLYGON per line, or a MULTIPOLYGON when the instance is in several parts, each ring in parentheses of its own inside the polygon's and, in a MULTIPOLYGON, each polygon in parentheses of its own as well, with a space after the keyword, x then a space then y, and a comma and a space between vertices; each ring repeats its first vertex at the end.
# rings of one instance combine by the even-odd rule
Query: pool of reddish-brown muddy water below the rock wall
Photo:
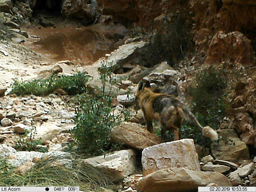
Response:
POLYGON ((31 32, 40 37, 34 40, 32 49, 55 61, 70 60, 89 65, 118 47, 116 41, 124 37, 125 30, 118 31, 116 34, 102 26, 42 27, 31 32))

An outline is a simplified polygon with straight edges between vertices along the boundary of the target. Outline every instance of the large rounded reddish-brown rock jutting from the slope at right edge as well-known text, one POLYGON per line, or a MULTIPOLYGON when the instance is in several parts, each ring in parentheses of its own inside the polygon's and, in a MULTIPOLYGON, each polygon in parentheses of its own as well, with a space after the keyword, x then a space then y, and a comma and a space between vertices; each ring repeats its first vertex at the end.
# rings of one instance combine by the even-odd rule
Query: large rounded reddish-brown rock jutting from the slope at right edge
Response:
POLYGON ((221 62, 255 64, 256 57, 251 41, 241 32, 217 32, 209 45, 205 63, 219 64, 221 62))

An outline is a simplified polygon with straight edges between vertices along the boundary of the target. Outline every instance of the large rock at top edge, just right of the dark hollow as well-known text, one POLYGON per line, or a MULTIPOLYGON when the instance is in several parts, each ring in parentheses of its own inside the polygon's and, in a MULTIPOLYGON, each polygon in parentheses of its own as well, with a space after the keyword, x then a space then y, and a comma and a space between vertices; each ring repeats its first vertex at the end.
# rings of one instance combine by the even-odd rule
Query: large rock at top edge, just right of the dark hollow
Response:
POLYGON ((99 13, 96 8, 96 0, 64 0, 61 13, 65 17, 83 19, 82 23, 87 26, 98 19, 99 13))

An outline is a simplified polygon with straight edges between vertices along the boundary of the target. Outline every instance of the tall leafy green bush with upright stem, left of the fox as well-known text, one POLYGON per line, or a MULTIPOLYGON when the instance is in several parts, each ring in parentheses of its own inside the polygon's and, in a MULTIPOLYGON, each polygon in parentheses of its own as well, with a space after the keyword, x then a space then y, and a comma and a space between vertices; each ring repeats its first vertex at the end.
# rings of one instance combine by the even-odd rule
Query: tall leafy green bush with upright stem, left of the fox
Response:
POLYGON ((90 156, 119 148, 118 143, 113 144, 110 141, 111 129, 121 120, 127 120, 129 116, 125 110, 119 116, 113 113, 111 86, 109 90, 106 89, 107 82, 111 85, 114 82, 111 70, 102 66, 100 75, 102 93, 79 96, 79 106, 74 119, 76 127, 72 130, 79 150, 90 156))

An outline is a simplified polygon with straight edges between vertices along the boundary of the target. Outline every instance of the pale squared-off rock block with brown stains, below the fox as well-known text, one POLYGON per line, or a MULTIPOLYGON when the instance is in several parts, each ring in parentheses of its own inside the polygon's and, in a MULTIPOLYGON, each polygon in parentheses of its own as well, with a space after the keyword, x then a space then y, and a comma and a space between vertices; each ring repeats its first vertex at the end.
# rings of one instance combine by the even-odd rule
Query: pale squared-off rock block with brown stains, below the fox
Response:
POLYGON ((142 151, 141 163, 143 176, 172 167, 200 171, 198 155, 192 139, 177 140, 145 148, 142 151))

